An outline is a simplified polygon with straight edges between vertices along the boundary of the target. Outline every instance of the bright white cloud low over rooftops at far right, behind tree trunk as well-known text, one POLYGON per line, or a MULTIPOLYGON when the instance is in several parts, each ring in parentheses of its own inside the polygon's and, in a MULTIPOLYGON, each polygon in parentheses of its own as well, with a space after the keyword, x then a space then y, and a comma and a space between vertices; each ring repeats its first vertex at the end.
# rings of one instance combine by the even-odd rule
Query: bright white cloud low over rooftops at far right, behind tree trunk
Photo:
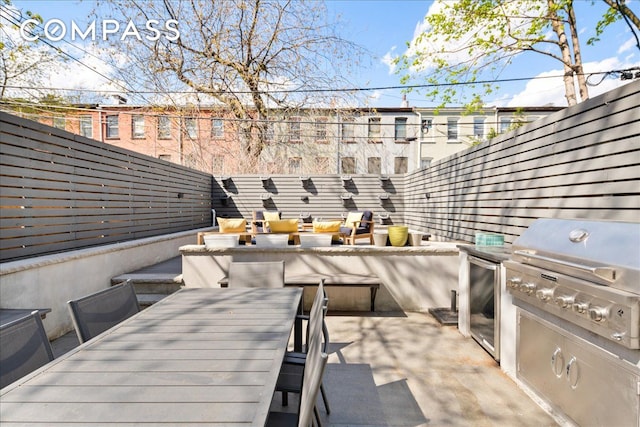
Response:
MULTIPOLYGON (((633 66, 631 63, 621 63, 618 58, 607 58, 598 62, 587 62, 584 64, 585 74, 605 72, 611 70, 625 69, 633 66)), ((549 70, 540 73, 530 80, 525 86, 524 90, 512 97, 503 98, 504 104, 498 102, 497 105, 506 105, 508 107, 532 107, 532 106, 557 106, 565 107, 567 100, 565 98, 564 83, 561 77, 563 70, 549 70)), ((587 79, 587 81, 593 86, 589 86, 589 97, 593 98, 605 92, 609 92, 617 87, 620 87, 629 80, 622 81, 617 77, 608 76, 602 79, 601 74, 596 74, 587 79)), ((576 88, 576 96, 578 95, 578 88, 576 88)))

